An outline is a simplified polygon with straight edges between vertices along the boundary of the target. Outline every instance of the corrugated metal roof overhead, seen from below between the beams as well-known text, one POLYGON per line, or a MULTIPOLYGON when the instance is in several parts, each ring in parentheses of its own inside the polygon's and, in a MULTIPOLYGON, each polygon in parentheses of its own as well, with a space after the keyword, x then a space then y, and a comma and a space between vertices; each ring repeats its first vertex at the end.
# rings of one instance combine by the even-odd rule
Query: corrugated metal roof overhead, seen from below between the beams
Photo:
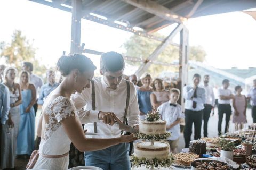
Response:
MULTIPOLYGON (((69 8, 61 6, 61 4, 71 6, 72 0, 30 0, 37 3, 60 8, 61 10, 71 11, 69 8)), ((194 18, 198 16, 206 16, 212 14, 220 14, 233 11, 243 11, 249 8, 256 7, 255 0, 131 0, 132 2, 155 4, 165 7, 172 13, 180 17, 187 18, 188 14, 193 10, 198 1, 202 1, 196 10, 189 16, 194 18)), ((138 8, 130 1, 120 0, 83 0, 83 15, 95 13, 108 18, 109 21, 121 21, 127 24, 128 27, 139 27, 145 32, 151 33, 175 23, 174 21, 166 20, 153 12, 147 12, 142 8, 138 8)), ((156 10, 157 12, 157 10, 156 10)), ((158 11, 159 12, 159 11, 158 11)), ((88 19, 88 18, 87 18, 88 19)), ((97 21, 96 21, 97 22, 97 21)))

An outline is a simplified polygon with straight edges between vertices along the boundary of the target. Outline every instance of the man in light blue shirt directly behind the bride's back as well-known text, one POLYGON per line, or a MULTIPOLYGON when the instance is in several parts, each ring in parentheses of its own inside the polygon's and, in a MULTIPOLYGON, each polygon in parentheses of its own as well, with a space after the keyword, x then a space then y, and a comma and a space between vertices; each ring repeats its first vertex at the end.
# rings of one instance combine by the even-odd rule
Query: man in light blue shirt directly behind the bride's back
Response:
POLYGON ((44 100, 47 98, 47 96, 52 92, 54 89, 56 89, 60 83, 55 82, 55 72, 52 70, 47 70, 46 72, 46 78, 47 83, 45 83, 40 90, 40 95, 38 98, 38 105, 43 105, 44 100))

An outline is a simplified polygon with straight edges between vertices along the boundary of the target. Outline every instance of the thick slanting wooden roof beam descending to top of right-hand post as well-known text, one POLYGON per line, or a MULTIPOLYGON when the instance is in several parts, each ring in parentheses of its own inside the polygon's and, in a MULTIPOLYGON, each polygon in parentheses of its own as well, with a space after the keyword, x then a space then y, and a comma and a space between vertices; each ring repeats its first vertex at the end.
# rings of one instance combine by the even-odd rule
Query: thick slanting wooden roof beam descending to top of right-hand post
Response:
POLYGON ((141 8, 142 10, 147 11, 156 16, 159 16, 160 18, 163 18, 165 20, 182 23, 182 20, 183 20, 182 17, 180 17, 178 14, 175 14, 168 8, 157 4, 154 1, 151 1, 151 0, 147 0, 147 1, 145 1, 145 0, 122 0, 122 1, 126 2, 128 4, 131 4, 135 7, 141 8))

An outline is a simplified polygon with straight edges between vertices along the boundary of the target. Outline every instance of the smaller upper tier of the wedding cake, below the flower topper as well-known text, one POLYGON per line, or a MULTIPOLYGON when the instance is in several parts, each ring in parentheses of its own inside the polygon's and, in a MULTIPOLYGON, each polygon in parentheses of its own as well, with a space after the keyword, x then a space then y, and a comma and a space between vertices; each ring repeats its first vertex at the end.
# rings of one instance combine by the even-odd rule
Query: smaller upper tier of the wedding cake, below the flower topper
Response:
POLYGON ((139 132, 144 134, 162 134, 166 132, 166 121, 158 120, 149 122, 142 120, 139 123, 139 132))

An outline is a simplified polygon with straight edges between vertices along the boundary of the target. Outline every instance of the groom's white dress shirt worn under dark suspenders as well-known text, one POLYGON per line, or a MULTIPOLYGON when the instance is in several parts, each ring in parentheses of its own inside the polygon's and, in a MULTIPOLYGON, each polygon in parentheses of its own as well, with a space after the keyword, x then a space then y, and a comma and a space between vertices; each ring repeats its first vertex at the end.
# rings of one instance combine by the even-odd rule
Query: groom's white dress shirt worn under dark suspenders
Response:
MULTIPOLYGON (((121 120, 124 120, 127 86, 124 79, 120 82, 116 90, 111 90, 103 77, 94 78, 95 84, 95 108, 96 111, 92 111, 92 85, 90 88, 86 88, 82 93, 76 93, 71 95, 71 100, 77 109, 77 115, 82 124, 85 124, 84 129, 87 132, 94 132, 93 123, 97 121, 98 135, 92 135, 91 138, 115 138, 119 137, 121 130, 119 125, 114 124, 113 126, 106 125, 102 121, 98 120, 99 111, 114 112, 115 115, 121 120), (85 106, 85 107, 84 107, 85 106), (84 107, 85 111, 81 109, 84 107), (87 123, 87 124, 86 124, 87 123)), ((130 126, 139 124, 139 105, 136 90, 134 84, 130 84, 130 100, 129 108, 127 111, 127 120, 130 126)), ((87 136, 86 136, 87 137, 87 136)), ((90 138, 90 136, 88 135, 90 138)))

